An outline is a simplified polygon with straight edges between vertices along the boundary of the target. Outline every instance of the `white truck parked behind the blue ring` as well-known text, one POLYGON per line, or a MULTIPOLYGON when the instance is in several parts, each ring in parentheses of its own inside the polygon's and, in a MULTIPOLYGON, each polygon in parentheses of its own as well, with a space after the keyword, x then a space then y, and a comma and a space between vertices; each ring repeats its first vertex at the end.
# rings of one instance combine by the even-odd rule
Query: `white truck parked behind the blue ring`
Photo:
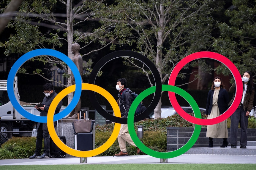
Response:
MULTIPOLYGON (((25 103, 19 101, 20 95, 18 92, 18 81, 17 77, 14 80, 14 93, 15 97, 20 102, 20 105, 29 113, 38 115, 40 112, 34 108, 35 104, 38 103, 25 103)), ((61 110, 65 109, 65 107, 61 107, 61 110)), ((12 135, 31 135, 32 130, 36 128, 37 122, 33 122, 21 114, 19 114, 15 108, 12 106, 10 99, 7 94, 7 80, 0 80, 0 126, 1 132, 4 137, 11 138, 12 135), (6 133, 4 133, 6 132, 6 133)))

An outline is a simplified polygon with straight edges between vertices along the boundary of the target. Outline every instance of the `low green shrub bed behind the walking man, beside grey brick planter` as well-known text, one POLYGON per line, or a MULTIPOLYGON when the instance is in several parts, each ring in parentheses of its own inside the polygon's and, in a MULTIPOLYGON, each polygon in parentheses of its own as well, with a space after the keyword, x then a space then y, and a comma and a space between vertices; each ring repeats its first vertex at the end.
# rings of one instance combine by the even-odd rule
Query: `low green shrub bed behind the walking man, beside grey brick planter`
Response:
MULTIPOLYGON (((193 115, 193 114, 191 114, 193 115)), ((204 115, 202 115, 204 119, 204 115)), ((148 148, 158 151, 166 152, 166 127, 194 127, 195 125, 187 122, 181 116, 173 115, 162 119, 144 119, 139 122, 134 123, 135 131, 138 130, 137 126, 143 125, 143 143, 148 148)), ((206 127, 206 126, 204 126, 206 127)), ((96 126, 95 135, 95 146, 99 147, 103 145, 112 134, 114 129, 114 124, 104 124, 96 126)), ((132 145, 127 144, 127 152, 129 155, 136 155, 136 148, 132 145)), ((114 154, 120 152, 118 141, 116 140, 114 144, 108 148, 105 152, 99 154, 99 156, 113 156, 114 154)), ((142 153, 145 154, 145 153, 142 153)))

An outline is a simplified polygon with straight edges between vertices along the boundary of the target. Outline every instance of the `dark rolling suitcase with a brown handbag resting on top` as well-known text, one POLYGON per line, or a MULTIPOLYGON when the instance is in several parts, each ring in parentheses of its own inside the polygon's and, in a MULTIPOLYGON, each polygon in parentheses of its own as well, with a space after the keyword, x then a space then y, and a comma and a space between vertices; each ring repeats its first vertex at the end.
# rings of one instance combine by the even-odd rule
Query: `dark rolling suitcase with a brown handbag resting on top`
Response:
MULTIPOLYGON (((79 111, 80 117, 82 113, 85 114, 88 119, 88 112, 86 109, 79 111)), ((91 132, 89 133, 77 133, 75 134, 75 150, 93 150, 93 135, 92 135, 93 123, 91 124, 91 132)))

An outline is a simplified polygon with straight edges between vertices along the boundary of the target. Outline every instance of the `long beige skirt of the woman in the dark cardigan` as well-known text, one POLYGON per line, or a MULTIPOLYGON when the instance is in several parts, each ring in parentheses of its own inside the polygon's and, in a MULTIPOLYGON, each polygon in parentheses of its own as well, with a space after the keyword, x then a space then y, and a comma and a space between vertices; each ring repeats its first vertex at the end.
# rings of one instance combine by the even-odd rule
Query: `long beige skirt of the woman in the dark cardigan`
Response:
MULTIPOLYGON (((213 105, 211 108, 211 114, 208 115, 207 119, 212 119, 219 115, 219 107, 217 105, 213 105)), ((206 137, 228 138, 227 119, 217 124, 208 125, 206 130, 206 137)))

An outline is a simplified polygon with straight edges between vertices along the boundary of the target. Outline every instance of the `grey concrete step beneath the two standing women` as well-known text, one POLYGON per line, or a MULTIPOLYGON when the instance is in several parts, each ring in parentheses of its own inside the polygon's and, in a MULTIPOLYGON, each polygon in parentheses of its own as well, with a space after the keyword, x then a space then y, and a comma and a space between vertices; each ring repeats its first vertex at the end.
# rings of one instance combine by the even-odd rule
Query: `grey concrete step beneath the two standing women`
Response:
MULTIPOLYGON (((255 144, 256 142, 253 142, 255 144)), ((241 149, 240 145, 237 148, 231 148, 228 145, 226 148, 220 148, 219 146, 208 147, 198 147, 190 148, 184 154, 206 154, 206 155, 256 155, 256 146, 250 146, 247 143, 246 149, 241 149)))

